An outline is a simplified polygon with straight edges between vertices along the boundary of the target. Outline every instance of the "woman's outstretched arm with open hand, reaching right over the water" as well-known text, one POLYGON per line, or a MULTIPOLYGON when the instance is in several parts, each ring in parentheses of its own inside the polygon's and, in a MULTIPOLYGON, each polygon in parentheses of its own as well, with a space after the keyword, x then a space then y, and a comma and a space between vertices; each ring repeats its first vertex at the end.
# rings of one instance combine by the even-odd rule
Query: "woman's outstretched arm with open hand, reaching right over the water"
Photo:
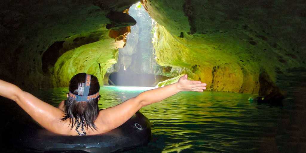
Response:
POLYGON ((104 132, 117 128, 132 117, 140 108, 166 99, 180 91, 203 91, 206 84, 200 81, 187 79, 187 75, 182 76, 178 82, 140 93, 138 96, 128 99, 125 102, 101 110, 97 118, 97 127, 104 132), (101 123, 101 125, 99 124, 101 123))

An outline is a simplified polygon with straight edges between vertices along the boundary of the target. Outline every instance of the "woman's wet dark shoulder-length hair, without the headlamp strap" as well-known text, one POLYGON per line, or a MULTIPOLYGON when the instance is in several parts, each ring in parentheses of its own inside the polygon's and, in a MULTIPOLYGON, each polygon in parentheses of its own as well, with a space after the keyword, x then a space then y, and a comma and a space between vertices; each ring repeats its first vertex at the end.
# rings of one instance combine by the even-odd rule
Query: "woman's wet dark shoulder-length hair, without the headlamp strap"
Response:
MULTIPOLYGON (((75 95, 78 95, 79 83, 85 83, 86 73, 78 73, 73 76, 69 83, 69 91, 75 95)), ((97 77, 91 75, 91 82, 88 95, 94 95, 100 90, 100 84, 97 77)), ((71 124, 70 130, 79 127, 91 130, 97 130, 94 121, 99 115, 98 98, 88 100, 88 101, 76 101, 72 97, 68 97, 65 101, 65 115, 61 118, 61 121, 67 119, 70 120, 71 124)))

